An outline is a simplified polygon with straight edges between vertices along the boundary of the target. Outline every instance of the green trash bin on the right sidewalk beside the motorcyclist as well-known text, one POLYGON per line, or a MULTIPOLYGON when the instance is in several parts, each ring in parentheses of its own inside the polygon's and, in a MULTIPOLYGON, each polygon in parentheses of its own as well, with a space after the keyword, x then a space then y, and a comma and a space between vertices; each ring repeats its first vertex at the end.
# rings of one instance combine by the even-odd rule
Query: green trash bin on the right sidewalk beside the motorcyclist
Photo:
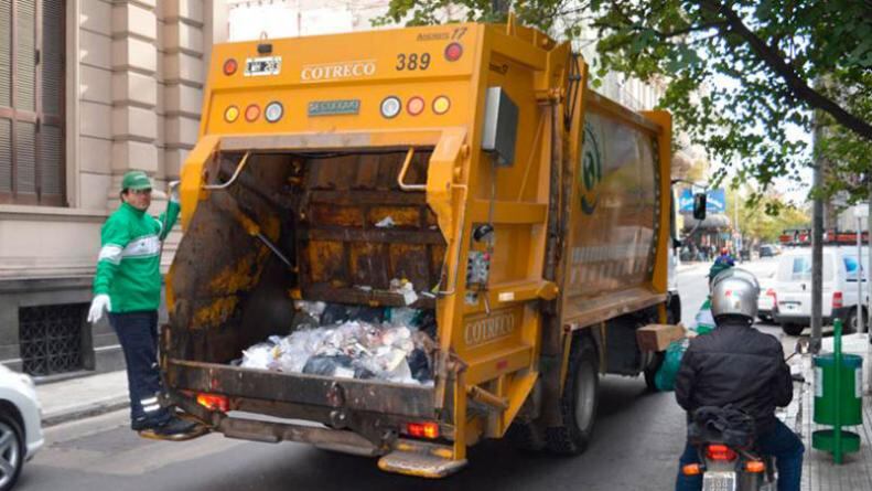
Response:
MULTIPOLYGON (((837 384, 835 353, 815 356, 814 419, 819 425, 841 428, 863 424, 863 359, 855 354, 842 354, 841 357, 841 380, 837 384), (839 385, 838 391, 837 385, 839 385)), ((840 434, 841 451, 854 452, 860 449, 859 435, 846 430, 841 430, 840 434)), ((835 428, 815 431, 811 441, 814 448, 832 451, 837 446, 835 428)))

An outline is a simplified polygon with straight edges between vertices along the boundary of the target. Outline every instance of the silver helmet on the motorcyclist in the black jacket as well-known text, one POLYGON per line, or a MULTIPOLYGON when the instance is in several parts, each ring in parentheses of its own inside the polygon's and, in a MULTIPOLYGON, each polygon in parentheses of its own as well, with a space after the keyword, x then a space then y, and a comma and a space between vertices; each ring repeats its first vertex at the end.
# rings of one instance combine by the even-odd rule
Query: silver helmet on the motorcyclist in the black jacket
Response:
POLYGON ((712 280, 711 314, 717 321, 723 316, 741 316, 754 322, 757 317, 760 282, 746 269, 730 268, 712 280))

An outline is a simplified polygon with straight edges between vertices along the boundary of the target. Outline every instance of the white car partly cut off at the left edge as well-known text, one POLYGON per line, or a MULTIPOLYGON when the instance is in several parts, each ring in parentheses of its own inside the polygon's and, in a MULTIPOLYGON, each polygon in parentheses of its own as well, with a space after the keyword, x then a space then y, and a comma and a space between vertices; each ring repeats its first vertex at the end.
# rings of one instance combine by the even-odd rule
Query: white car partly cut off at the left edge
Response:
POLYGON ((40 412, 33 380, 0 365, 0 491, 15 485, 24 461, 45 442, 40 412))

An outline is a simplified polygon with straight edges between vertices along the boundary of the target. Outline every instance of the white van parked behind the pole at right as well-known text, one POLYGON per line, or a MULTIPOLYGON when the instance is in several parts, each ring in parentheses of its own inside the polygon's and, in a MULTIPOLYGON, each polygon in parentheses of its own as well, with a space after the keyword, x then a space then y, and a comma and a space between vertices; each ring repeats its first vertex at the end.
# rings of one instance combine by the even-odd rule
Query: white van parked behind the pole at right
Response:
MULTIPOLYGON (((869 269, 868 248, 861 250, 862 257, 862 298, 866 303, 866 275, 869 269)), ((811 248, 797 248, 785 252, 779 258, 775 274, 775 297, 778 308, 773 312, 775 322, 785 333, 799 335, 810 324, 811 319, 811 248)), ((844 332, 857 332, 857 247, 823 247, 823 324, 833 319, 844 321, 844 332)), ((868 314, 863 309, 863 320, 868 325, 868 314)))

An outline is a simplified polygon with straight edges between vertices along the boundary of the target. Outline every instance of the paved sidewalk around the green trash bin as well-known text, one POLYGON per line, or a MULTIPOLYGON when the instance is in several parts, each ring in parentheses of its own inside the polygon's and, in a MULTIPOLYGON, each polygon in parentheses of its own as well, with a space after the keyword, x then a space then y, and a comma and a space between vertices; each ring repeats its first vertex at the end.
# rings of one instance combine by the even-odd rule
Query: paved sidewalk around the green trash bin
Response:
MULTIPOLYGON (((863 371, 866 371, 866 335, 852 334, 842 338, 844 353, 863 356, 863 371)), ((825 338, 822 353, 832 352, 832 338, 825 338)), ((855 453, 846 453, 842 465, 837 466, 828 452, 816 450, 811 447, 811 434, 828 426, 814 423, 815 407, 815 370, 811 355, 803 356, 798 364, 801 366, 806 383, 803 386, 799 401, 787 409, 788 425, 794 423, 794 430, 799 434, 806 446, 803 462, 803 490, 804 491, 831 491, 831 490, 861 490, 872 489, 872 396, 863 396, 863 425, 846 427, 846 430, 860 435, 860 450, 855 453), (793 413, 793 416, 790 417, 793 413)), ((863 384, 865 389, 865 384, 863 384)))

